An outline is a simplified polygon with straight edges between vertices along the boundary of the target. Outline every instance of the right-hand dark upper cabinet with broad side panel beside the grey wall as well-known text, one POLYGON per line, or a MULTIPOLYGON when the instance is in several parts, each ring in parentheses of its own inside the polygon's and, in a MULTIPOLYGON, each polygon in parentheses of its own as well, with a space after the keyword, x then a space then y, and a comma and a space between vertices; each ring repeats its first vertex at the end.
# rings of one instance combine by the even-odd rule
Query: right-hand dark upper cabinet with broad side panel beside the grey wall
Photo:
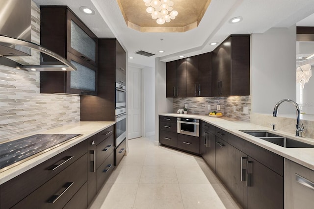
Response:
POLYGON ((250 35, 231 35, 212 55, 212 95, 250 95, 250 35))

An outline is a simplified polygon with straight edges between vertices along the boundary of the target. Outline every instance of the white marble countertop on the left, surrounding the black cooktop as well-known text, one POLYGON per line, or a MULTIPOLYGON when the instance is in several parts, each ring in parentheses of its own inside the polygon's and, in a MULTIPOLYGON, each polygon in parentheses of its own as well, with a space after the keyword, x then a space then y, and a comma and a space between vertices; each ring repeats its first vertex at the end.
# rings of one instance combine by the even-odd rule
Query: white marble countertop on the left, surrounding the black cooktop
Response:
MULTIPOLYGON (((57 154, 63 152, 64 150, 73 147, 74 145, 78 144, 79 142, 88 139, 89 137, 101 132, 102 130, 108 128, 109 126, 115 124, 113 121, 102 121, 102 122, 78 122, 78 123, 71 123, 69 125, 64 125, 62 127, 50 129, 44 132, 40 132, 37 134, 82 134, 83 136, 78 137, 77 139, 69 140, 68 142, 57 146, 39 156, 31 158, 24 163, 18 164, 12 168, 9 168, 0 173, 0 184, 9 181, 10 179, 18 176, 19 174, 29 170, 36 165, 47 161, 48 159, 56 156, 57 154)), ((27 137, 27 136, 25 136, 27 137)), ((7 141, 5 141, 7 142, 7 141)))

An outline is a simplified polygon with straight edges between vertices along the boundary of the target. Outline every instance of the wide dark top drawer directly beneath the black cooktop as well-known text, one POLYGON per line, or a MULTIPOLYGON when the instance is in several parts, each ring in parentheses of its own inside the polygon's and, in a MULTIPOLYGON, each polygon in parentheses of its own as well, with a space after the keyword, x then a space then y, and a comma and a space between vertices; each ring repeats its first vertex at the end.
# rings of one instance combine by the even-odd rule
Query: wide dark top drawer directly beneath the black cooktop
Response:
POLYGON ((87 140, 0 186, 0 208, 10 208, 86 153, 87 140), (63 163, 63 164, 62 164, 63 163), (60 165, 60 166, 57 166, 60 165), (54 168, 54 169, 53 169, 54 168), (53 169, 53 170, 52 170, 53 169), (19 195, 16 195, 19 194, 19 195))

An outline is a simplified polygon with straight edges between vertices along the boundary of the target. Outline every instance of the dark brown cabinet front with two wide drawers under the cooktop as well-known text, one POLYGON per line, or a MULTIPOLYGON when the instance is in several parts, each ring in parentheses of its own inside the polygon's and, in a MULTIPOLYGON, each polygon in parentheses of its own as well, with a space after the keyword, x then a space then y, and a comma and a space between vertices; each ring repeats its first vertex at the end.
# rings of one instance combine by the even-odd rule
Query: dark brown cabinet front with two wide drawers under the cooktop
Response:
MULTIPOLYGON (((62 208, 87 181, 86 140, 0 185, 0 208, 62 208), (73 157, 72 157, 73 156, 73 157), (59 164, 56 169, 52 165, 59 164), (76 172, 73 172, 73 171, 76 172), (77 174, 77 175, 74 175, 77 174), (73 185, 68 183, 73 183, 73 185), (68 190, 55 201, 56 192, 68 190), (18 195, 17 195, 18 194, 18 195), (17 205, 16 205, 17 204, 17 205), (55 206, 57 205, 57 206, 55 206)), ((87 205, 87 196, 82 198, 87 205)))

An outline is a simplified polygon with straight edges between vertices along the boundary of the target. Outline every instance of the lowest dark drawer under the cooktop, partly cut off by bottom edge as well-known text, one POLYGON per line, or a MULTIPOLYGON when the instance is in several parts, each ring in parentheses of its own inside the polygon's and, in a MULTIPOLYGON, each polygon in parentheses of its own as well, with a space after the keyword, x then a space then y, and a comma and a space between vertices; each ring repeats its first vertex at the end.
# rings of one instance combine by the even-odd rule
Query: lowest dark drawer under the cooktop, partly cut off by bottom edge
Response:
POLYGON ((87 182, 80 187, 63 209, 87 209, 87 182))

